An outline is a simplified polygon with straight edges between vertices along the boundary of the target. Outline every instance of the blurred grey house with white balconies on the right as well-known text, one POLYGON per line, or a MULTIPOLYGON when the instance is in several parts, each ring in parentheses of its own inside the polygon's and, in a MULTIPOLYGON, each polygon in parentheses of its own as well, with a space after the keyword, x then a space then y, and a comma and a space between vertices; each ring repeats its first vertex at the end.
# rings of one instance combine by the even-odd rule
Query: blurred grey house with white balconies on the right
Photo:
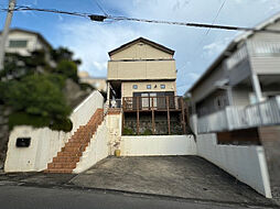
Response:
MULTIPOLYGON (((280 31, 280 14, 256 29, 280 31)), ((237 36, 186 95, 201 133, 280 123, 279 33, 237 36)))

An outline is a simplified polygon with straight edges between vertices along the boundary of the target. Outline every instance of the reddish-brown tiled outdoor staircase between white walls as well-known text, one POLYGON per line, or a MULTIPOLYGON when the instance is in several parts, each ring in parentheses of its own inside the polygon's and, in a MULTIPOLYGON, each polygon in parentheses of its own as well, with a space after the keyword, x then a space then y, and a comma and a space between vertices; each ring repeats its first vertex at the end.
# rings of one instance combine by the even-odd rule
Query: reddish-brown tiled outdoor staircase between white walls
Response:
POLYGON ((53 162, 47 164, 47 169, 44 172, 72 173, 103 120, 104 109, 97 109, 88 123, 79 127, 61 152, 57 153, 57 156, 53 158, 53 162))

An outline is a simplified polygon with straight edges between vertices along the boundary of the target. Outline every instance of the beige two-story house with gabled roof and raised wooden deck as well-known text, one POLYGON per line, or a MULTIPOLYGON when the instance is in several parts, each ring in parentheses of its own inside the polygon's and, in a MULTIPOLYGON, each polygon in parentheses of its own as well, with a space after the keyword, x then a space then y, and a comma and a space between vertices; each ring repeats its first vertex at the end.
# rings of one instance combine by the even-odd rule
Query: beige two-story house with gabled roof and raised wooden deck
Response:
POLYGON ((109 52, 107 99, 110 108, 121 108, 125 132, 185 132, 173 55, 174 51, 143 37, 109 52))

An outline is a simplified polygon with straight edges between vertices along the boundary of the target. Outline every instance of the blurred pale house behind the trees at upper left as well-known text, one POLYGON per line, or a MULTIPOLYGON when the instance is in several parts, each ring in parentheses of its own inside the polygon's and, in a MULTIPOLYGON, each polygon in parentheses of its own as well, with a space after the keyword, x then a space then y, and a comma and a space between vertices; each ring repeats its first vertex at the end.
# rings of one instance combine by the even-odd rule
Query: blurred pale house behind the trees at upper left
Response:
POLYGON ((6 43, 7 53, 18 53, 29 56, 34 51, 51 51, 51 44, 37 32, 11 29, 6 43))

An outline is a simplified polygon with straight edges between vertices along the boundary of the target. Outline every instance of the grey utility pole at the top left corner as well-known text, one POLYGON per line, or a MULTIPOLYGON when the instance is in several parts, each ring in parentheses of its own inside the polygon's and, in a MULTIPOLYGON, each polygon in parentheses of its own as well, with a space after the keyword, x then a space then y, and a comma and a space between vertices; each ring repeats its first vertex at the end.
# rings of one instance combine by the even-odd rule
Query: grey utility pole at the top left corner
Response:
POLYGON ((0 70, 3 69, 6 42, 9 35, 9 29, 12 21, 12 13, 15 7, 15 1, 17 0, 9 0, 9 10, 6 18, 4 29, 1 35, 2 37, 1 37, 1 45, 0 45, 0 70))

